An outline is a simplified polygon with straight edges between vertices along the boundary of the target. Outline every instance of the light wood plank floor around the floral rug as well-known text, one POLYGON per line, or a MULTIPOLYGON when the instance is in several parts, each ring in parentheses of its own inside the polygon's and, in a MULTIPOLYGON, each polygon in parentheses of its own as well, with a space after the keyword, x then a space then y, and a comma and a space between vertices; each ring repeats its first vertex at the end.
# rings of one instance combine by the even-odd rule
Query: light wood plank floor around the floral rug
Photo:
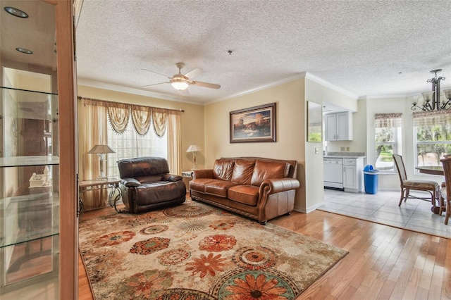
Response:
MULTIPOLYGON (((350 252, 297 299, 451 299, 450 239, 323 211, 270 222, 350 252)), ((81 257, 78 278, 79 299, 92 299, 81 257)))

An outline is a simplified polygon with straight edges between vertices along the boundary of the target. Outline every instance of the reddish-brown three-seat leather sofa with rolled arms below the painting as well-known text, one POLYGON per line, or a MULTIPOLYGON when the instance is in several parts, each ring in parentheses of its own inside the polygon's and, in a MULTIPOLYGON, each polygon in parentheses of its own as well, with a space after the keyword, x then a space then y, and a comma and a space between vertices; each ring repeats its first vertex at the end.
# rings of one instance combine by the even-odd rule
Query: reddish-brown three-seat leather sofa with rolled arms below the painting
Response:
POLYGON ((193 170, 192 199, 240 213, 265 225, 295 207, 297 161, 238 157, 216 159, 213 169, 193 170))

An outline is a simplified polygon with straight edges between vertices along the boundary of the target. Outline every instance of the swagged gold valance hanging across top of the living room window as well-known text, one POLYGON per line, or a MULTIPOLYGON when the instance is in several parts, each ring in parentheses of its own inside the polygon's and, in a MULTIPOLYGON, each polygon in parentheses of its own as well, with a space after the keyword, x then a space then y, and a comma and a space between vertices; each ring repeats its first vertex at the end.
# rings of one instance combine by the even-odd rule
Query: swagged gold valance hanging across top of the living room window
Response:
POLYGON ((82 96, 78 96, 78 99, 82 100, 85 106, 104 106, 108 113, 109 123, 118 134, 123 133, 127 129, 131 115, 133 127, 138 135, 147 135, 152 121, 156 135, 163 137, 168 124, 168 115, 180 115, 182 112, 175 109, 125 104, 84 98, 82 96))

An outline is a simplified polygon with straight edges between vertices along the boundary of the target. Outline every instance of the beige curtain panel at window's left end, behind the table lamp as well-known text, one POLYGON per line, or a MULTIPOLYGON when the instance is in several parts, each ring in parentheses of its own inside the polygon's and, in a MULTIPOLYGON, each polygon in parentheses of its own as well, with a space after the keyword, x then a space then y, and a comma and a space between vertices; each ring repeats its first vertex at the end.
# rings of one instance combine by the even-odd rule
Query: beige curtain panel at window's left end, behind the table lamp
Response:
MULTIPOLYGON (((80 181, 94 180, 99 175, 99 156, 97 154, 88 154, 96 144, 107 144, 106 142, 106 110, 104 106, 98 106, 97 101, 83 99, 82 109, 85 119, 83 128, 84 139, 79 140, 82 153, 79 157, 82 159, 82 170, 79 170, 80 181)), ((103 208, 106 205, 108 197, 106 189, 97 191, 83 192, 82 196, 85 211, 91 211, 97 208, 103 208)))

